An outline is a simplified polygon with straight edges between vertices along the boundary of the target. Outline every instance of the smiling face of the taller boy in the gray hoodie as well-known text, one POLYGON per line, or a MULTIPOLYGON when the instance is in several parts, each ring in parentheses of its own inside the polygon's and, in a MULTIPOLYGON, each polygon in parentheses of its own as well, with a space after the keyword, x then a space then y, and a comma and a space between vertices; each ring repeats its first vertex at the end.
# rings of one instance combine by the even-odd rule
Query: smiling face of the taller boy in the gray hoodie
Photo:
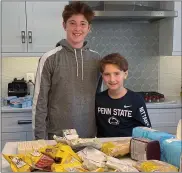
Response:
POLYGON ((88 32, 90 24, 82 14, 71 16, 63 27, 67 33, 67 40, 74 48, 81 48, 88 32))

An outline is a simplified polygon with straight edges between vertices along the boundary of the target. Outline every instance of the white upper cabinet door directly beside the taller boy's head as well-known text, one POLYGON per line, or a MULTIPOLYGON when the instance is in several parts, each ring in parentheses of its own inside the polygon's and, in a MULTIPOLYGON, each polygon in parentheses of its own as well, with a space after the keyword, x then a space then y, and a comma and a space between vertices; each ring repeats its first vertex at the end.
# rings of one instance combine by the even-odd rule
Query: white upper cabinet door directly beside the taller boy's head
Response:
POLYGON ((62 11, 68 2, 26 2, 28 52, 47 52, 65 38, 62 11))

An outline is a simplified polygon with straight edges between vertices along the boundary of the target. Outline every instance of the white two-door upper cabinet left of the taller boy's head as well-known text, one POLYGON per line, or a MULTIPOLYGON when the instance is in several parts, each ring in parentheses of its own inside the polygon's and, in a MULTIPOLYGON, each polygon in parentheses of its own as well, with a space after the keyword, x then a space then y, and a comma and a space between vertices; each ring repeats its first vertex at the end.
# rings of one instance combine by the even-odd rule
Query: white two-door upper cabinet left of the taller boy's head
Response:
POLYGON ((68 2, 2 2, 2 52, 45 53, 65 38, 68 2))

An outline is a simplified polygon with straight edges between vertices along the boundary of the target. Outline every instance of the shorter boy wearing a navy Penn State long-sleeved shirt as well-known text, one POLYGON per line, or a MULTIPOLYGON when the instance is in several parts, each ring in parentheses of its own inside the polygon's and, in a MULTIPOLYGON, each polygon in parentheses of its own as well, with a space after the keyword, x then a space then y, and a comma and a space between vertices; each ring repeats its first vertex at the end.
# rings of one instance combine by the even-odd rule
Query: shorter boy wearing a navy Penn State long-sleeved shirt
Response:
POLYGON ((143 98, 124 87, 127 60, 109 54, 100 61, 100 71, 108 89, 96 96, 97 137, 127 137, 134 127, 151 127, 143 98))

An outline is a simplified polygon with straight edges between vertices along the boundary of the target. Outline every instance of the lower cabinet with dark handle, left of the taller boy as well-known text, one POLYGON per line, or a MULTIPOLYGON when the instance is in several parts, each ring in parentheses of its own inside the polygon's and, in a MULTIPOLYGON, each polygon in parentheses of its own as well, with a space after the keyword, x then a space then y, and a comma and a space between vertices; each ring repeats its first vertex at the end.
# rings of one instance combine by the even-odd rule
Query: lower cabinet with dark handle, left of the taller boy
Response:
POLYGON ((2 143, 1 148, 6 142, 29 141, 32 140, 32 112, 26 109, 2 109, 2 143))

